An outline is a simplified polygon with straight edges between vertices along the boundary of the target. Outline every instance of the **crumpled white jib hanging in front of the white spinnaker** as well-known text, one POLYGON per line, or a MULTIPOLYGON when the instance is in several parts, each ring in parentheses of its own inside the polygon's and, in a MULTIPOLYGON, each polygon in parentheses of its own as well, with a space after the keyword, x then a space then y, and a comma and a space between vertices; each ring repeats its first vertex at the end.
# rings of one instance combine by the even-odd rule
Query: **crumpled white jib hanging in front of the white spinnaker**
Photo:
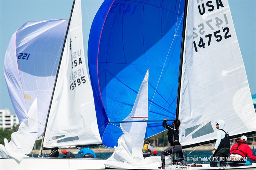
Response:
POLYGON ((4 138, 4 145, 0 144, 0 158, 14 158, 21 161, 28 157, 36 142, 37 137, 37 98, 33 101, 29 111, 28 118, 20 123, 17 132, 11 135, 11 141, 4 138))

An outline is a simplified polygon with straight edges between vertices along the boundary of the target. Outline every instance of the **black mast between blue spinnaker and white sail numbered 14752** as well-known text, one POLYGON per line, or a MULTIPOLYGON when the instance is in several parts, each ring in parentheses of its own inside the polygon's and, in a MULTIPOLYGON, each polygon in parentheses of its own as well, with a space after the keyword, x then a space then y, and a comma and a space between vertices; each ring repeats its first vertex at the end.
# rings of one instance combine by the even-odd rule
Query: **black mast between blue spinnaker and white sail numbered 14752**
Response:
POLYGON ((179 70, 179 80, 178 80, 178 94, 177 94, 177 106, 176 106, 176 119, 179 119, 179 109, 180 109, 180 86, 181 86, 181 75, 182 75, 182 65, 183 65, 183 55, 184 55, 184 44, 186 36, 186 22, 187 22, 187 10, 188 10, 188 0, 185 0, 184 7, 184 19, 183 19, 183 30, 182 30, 182 41, 181 41, 181 51, 180 51, 180 70, 179 70))

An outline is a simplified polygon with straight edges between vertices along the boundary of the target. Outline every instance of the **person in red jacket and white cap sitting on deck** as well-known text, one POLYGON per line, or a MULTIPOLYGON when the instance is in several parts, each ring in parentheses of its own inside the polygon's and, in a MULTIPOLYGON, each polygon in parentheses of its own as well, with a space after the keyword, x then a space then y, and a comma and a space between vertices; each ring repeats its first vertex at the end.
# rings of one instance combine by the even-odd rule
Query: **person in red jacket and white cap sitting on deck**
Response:
POLYGON ((247 156, 254 161, 256 160, 250 146, 248 146, 246 142, 247 137, 242 136, 240 140, 231 147, 228 161, 229 166, 252 165, 250 161, 246 160, 247 156))

